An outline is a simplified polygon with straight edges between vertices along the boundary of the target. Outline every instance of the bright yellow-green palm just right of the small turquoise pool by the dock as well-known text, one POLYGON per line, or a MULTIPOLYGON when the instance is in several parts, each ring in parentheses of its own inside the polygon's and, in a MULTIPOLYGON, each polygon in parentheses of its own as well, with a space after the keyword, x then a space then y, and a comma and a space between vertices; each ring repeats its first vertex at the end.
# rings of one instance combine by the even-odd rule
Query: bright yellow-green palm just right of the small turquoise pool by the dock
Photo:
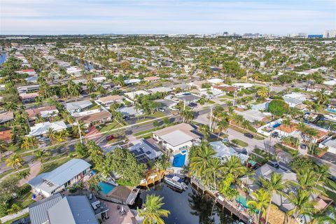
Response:
POLYGON ((258 223, 260 223, 262 213, 264 213, 269 206, 270 195, 264 188, 260 188, 256 192, 253 192, 252 196, 253 200, 249 200, 246 204, 258 209, 258 223))

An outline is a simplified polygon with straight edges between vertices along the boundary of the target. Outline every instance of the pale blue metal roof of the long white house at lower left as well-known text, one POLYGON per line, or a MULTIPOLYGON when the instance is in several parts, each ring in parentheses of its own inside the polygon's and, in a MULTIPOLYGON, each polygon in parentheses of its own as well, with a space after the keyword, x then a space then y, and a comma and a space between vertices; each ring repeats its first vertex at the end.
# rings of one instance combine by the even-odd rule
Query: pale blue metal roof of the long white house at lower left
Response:
POLYGON ((43 179, 55 185, 62 186, 89 167, 91 167, 90 163, 85 160, 72 159, 49 172, 43 179))

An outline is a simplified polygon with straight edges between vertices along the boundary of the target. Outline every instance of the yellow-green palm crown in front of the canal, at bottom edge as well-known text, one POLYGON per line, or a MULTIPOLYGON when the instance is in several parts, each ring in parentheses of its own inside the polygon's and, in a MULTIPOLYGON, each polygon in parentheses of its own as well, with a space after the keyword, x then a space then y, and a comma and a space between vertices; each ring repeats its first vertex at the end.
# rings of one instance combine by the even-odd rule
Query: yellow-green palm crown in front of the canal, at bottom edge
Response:
POLYGON ((144 224, 165 224, 165 221, 161 218, 168 217, 170 211, 161 209, 163 197, 155 195, 147 195, 144 209, 139 209, 138 213, 140 217, 144 217, 144 224))

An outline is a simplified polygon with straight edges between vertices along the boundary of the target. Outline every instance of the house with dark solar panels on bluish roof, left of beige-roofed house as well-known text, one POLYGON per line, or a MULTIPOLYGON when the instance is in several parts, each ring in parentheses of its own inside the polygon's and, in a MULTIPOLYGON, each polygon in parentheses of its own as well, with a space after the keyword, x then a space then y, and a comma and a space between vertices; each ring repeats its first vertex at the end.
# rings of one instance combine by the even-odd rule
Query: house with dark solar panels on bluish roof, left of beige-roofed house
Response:
POLYGON ((139 162, 153 162, 162 157, 163 153, 146 139, 132 141, 132 146, 128 148, 139 162))

